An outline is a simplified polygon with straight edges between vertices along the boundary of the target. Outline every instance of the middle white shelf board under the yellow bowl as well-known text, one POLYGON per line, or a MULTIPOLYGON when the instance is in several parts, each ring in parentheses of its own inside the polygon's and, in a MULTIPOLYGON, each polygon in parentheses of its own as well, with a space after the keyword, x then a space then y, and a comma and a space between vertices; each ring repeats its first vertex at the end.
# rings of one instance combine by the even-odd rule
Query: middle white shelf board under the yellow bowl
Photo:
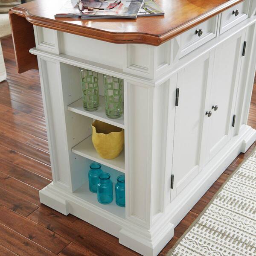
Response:
POLYGON ((114 159, 104 159, 100 157, 95 150, 91 136, 73 147, 72 152, 97 163, 104 164, 105 166, 111 167, 119 172, 125 173, 125 151, 123 150, 121 154, 114 159))

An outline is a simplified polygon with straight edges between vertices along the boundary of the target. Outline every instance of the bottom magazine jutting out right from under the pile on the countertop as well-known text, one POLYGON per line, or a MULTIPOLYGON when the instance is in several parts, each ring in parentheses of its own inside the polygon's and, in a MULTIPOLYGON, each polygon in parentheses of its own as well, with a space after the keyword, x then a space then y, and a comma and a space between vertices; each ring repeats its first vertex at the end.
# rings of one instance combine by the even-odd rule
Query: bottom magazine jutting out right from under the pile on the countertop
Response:
MULTIPOLYGON (((164 12, 158 4, 154 0, 145 0, 143 6, 141 6, 140 11, 138 12, 137 17, 142 16, 158 16, 158 15, 164 15, 164 12)), ((101 17, 101 16, 87 16, 86 13, 82 15, 82 20, 96 20, 96 19, 102 19, 102 18, 113 18, 113 17, 101 17)))

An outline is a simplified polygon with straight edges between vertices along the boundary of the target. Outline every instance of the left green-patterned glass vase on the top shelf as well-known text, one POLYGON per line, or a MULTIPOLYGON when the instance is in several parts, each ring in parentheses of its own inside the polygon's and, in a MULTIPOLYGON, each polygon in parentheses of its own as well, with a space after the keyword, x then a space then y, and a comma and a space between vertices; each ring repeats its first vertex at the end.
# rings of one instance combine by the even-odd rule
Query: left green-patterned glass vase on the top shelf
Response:
POLYGON ((96 111, 99 108, 98 73, 81 68, 80 74, 83 93, 83 107, 87 111, 96 111))

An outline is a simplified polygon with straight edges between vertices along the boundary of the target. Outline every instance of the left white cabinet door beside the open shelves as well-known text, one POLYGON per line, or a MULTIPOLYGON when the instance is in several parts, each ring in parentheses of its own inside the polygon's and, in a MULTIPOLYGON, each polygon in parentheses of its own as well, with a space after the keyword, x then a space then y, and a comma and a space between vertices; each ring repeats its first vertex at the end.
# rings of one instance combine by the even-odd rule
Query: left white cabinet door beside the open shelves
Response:
POLYGON ((201 171, 206 152, 206 102, 209 102, 213 52, 193 61, 178 73, 179 102, 175 110, 175 132, 171 200, 201 171))

